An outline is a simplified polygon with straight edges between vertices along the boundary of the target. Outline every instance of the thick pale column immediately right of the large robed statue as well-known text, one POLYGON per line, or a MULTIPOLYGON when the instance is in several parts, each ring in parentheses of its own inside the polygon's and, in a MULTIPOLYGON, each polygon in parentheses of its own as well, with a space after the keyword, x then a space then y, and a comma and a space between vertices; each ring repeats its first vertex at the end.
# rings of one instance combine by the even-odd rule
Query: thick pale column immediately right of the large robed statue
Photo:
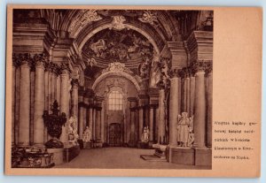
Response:
POLYGON ((196 148, 205 148, 206 138, 206 98, 204 71, 195 74, 195 114, 194 114, 194 133, 196 148))

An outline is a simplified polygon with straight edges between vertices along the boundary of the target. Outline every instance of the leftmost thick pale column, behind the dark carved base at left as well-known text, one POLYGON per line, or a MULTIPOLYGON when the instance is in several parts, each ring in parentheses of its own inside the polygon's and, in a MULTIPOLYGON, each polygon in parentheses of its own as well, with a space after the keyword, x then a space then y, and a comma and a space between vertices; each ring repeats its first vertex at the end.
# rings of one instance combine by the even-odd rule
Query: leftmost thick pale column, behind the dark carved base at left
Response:
POLYGON ((20 65, 20 129, 19 145, 29 146, 30 121, 30 56, 21 58, 20 65))

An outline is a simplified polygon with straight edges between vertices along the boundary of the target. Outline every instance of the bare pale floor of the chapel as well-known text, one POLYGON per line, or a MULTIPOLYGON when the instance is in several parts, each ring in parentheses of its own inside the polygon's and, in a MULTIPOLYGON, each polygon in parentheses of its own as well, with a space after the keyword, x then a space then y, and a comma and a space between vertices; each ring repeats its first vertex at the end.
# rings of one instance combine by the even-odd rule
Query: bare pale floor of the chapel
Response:
POLYGON ((101 168, 101 169, 210 169, 208 166, 148 162, 140 155, 153 155, 153 149, 103 148, 82 149, 71 162, 55 168, 101 168))

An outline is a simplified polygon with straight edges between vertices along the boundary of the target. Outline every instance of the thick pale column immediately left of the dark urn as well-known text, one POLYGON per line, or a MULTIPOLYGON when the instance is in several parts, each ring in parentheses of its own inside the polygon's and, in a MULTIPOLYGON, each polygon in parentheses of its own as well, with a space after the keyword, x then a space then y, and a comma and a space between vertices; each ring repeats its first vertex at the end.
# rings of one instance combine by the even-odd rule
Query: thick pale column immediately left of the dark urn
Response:
POLYGON ((44 142, 44 57, 38 57, 35 65, 35 103, 34 103, 34 144, 42 145, 44 142))

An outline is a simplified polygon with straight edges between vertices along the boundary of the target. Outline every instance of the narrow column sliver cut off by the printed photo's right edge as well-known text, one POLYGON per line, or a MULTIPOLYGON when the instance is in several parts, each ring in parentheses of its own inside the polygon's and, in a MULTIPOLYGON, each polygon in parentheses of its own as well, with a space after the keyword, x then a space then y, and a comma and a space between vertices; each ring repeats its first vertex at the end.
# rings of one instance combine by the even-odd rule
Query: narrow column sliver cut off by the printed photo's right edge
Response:
POLYGON ((207 74, 207 148, 212 147, 212 126, 213 126, 213 72, 207 74))

